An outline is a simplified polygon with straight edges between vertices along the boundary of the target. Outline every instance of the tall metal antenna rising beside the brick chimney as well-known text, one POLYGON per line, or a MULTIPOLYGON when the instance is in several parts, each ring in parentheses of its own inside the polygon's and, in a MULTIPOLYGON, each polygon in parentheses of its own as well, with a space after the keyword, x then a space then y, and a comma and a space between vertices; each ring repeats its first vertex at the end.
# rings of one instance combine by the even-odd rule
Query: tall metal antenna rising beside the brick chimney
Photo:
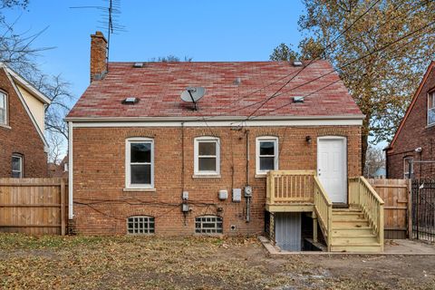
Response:
POLYGON ((102 20, 98 21, 98 28, 107 29, 107 53, 106 53, 106 71, 109 72, 109 50, 111 47, 111 34, 125 32, 125 26, 118 23, 121 14, 121 0, 102 0, 107 2, 107 6, 73 6, 71 9, 97 9, 102 12, 102 20))

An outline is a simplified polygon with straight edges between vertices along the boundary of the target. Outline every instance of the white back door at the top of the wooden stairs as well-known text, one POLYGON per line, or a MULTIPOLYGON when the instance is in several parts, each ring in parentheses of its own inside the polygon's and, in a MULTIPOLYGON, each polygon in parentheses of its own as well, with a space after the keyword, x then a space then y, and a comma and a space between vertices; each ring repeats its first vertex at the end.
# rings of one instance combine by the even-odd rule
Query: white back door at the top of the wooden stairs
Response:
POLYGON ((333 203, 347 203, 347 161, 344 138, 318 139, 317 175, 333 203))

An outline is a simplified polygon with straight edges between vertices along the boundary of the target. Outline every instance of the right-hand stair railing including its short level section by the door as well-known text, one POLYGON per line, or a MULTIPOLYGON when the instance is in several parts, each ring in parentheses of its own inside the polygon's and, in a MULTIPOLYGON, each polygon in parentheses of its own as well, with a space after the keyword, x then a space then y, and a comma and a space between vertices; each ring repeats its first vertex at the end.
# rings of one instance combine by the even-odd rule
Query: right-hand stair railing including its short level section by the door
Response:
POLYGON ((362 209, 383 251, 383 200, 363 177, 349 179, 349 203, 362 209))

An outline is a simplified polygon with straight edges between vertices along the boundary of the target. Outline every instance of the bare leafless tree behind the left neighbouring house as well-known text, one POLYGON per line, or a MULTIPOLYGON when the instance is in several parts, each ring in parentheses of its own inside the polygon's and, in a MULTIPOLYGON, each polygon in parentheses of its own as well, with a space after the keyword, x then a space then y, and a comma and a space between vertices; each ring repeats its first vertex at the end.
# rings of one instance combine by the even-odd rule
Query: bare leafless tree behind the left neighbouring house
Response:
POLYGON ((50 76, 38 68, 37 60, 41 53, 53 49, 53 47, 34 47, 33 44, 47 28, 36 34, 18 33, 14 26, 20 17, 12 24, 5 20, 3 14, 5 9, 14 7, 25 9, 28 2, 28 0, 0 0, 0 62, 8 64, 14 71, 20 73, 52 101, 45 110, 45 135, 51 147, 49 160, 55 163, 66 153, 68 127, 63 119, 70 111, 70 104, 75 98, 70 91, 70 83, 64 81, 60 74, 50 76))

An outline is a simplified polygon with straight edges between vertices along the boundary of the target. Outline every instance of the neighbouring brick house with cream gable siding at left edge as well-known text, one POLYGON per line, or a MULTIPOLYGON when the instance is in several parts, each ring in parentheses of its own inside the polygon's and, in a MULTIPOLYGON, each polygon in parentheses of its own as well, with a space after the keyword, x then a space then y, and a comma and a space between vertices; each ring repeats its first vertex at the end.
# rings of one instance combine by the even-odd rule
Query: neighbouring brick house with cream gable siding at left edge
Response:
POLYGON ((0 63, 0 178, 48 176, 43 137, 50 100, 5 63, 0 63))

